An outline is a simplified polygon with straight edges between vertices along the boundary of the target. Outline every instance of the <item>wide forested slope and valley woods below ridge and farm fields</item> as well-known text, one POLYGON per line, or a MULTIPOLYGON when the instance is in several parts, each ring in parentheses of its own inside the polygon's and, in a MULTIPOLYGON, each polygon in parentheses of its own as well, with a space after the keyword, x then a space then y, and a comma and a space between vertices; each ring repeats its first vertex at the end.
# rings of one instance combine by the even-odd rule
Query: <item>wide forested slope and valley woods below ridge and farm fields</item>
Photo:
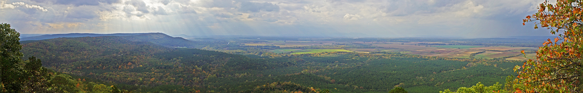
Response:
MULTIPOLYGON (((132 37, 152 39, 138 36, 132 37)), ((40 40, 23 44, 22 52, 37 56, 55 71, 134 92, 249 92, 278 82, 311 87, 314 92, 387 92, 395 87, 437 92, 478 82, 504 83, 506 76, 515 74, 509 69, 522 63, 356 52, 249 58, 127 38, 40 40)))

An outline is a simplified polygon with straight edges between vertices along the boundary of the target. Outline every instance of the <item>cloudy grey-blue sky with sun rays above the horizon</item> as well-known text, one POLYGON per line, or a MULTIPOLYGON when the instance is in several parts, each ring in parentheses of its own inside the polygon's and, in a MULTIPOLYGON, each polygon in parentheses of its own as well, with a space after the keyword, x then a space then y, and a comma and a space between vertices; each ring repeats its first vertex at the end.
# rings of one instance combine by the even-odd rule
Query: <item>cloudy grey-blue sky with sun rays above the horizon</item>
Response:
MULTIPOLYGON (((0 0, 21 34, 322 37, 552 35, 522 26, 544 0, 0 0)), ((551 1, 554 2, 554 1, 551 1)))

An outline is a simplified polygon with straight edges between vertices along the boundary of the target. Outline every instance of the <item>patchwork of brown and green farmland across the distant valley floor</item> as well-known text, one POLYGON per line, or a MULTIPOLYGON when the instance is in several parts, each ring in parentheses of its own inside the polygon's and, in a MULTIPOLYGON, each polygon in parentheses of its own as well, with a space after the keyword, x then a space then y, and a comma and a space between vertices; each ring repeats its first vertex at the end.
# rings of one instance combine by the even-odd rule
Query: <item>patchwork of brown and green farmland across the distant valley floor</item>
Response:
MULTIPOLYGON (((282 48, 286 47, 305 47, 312 45, 333 45, 333 44, 364 44, 372 45, 384 48, 346 48, 346 49, 274 49, 270 52, 274 53, 286 53, 291 52, 291 54, 303 54, 303 53, 318 53, 318 52, 333 52, 333 51, 346 51, 346 52, 361 52, 368 53, 374 51, 391 51, 391 52, 402 52, 406 54, 413 55, 424 55, 424 56, 440 56, 446 58, 469 58, 470 53, 480 52, 482 50, 497 50, 497 51, 486 51, 486 53, 480 53, 474 56, 475 58, 491 59, 500 58, 503 56, 513 56, 518 55, 521 50, 531 50, 536 48, 530 47, 508 47, 508 46, 479 46, 479 45, 416 45, 419 43, 428 44, 447 44, 440 42, 363 42, 363 41, 275 41, 275 40, 258 40, 258 41, 268 41, 261 43, 242 43, 251 46, 261 46, 261 45, 273 45, 282 48), (431 46, 431 47, 429 47, 431 46), (460 49, 458 49, 460 48, 460 49), (514 50, 514 51, 508 51, 514 50)), ((354 44, 354 45, 358 45, 354 44)), ((507 58, 508 60, 528 60, 524 57, 513 57, 507 58)))

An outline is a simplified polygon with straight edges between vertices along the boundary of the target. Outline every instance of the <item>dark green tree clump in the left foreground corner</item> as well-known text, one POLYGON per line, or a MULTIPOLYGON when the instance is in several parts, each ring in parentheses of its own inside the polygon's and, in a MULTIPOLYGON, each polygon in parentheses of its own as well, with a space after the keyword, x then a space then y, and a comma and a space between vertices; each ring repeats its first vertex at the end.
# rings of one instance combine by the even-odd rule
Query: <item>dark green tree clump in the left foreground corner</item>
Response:
POLYGON ((22 66, 20 34, 10 24, 0 24, 0 92, 58 92, 50 74, 34 56, 22 66))

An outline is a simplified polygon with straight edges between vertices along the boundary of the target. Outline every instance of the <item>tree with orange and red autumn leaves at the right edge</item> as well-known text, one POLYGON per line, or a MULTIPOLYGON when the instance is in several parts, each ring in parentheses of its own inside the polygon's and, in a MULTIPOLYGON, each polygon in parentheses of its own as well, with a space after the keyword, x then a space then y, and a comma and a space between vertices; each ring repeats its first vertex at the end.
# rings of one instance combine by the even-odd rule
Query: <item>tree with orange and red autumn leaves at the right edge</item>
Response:
POLYGON ((515 66, 519 74, 514 81, 515 92, 581 92, 581 2, 557 0, 553 5, 545 1, 540 3, 538 12, 523 20, 534 22, 535 28, 545 27, 552 34, 558 33, 559 38, 548 39, 544 47, 539 47, 538 60, 515 66))

